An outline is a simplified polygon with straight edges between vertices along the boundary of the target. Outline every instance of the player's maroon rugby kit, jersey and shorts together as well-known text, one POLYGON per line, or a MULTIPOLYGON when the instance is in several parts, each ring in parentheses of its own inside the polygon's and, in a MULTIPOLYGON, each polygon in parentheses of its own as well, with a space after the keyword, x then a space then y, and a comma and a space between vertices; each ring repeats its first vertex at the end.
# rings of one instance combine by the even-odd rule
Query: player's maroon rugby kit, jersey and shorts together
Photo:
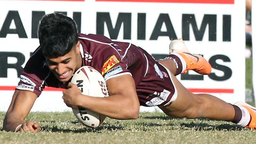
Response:
MULTIPOLYGON (((79 34, 82 65, 92 66, 107 81, 130 74, 135 81, 141 105, 167 105, 177 96, 169 71, 142 48, 127 42, 111 41, 103 35, 79 34)), ((39 96, 48 87, 67 88, 50 72, 40 46, 30 57, 17 89, 30 90, 39 96)))

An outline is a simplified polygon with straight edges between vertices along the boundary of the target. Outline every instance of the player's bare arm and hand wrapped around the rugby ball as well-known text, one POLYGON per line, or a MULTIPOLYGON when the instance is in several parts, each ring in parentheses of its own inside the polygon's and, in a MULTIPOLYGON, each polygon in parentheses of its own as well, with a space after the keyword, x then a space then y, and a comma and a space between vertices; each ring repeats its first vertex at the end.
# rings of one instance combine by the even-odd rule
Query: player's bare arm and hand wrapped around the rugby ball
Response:
POLYGON ((139 100, 134 79, 129 74, 108 79, 109 97, 98 98, 83 95, 75 84, 63 91, 64 102, 73 108, 85 107, 96 113, 115 119, 136 119, 139 115, 139 100))

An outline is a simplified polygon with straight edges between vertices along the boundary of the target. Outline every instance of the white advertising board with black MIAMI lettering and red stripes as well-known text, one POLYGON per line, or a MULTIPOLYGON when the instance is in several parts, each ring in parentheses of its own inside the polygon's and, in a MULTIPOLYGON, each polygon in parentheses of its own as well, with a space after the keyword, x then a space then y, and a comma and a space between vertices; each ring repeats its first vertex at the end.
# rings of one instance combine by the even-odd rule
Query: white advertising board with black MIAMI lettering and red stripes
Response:
MULTIPOLYGON (((53 12, 73 18, 81 33, 132 42, 154 56, 167 55, 171 39, 183 38, 191 53, 202 54, 213 70, 208 76, 178 76, 182 84, 229 103, 245 101, 245 0, 0 0, 0 12, 2 102, 11 100, 22 67, 39 46, 39 20, 53 12)), ((50 110, 67 109, 60 91, 46 89, 33 110, 42 110, 52 99, 50 110)), ((6 107, 8 102, 0 110, 6 107)))

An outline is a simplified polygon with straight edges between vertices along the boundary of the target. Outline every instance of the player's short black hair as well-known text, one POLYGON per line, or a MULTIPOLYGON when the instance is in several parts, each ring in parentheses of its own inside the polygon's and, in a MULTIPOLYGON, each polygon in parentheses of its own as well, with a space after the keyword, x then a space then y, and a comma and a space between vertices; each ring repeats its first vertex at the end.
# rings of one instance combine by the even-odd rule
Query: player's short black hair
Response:
POLYGON ((76 23, 61 13, 45 15, 38 27, 38 38, 43 56, 63 56, 78 42, 76 23))

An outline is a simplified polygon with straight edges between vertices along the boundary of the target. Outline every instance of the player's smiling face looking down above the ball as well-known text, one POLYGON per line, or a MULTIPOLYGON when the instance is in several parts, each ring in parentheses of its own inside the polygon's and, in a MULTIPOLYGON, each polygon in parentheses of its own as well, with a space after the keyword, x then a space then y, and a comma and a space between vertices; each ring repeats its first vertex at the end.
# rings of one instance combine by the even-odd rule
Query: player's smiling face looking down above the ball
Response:
POLYGON ((80 42, 69 53, 57 58, 46 57, 46 63, 54 76, 61 82, 67 82, 74 72, 81 67, 82 57, 79 50, 80 42))

